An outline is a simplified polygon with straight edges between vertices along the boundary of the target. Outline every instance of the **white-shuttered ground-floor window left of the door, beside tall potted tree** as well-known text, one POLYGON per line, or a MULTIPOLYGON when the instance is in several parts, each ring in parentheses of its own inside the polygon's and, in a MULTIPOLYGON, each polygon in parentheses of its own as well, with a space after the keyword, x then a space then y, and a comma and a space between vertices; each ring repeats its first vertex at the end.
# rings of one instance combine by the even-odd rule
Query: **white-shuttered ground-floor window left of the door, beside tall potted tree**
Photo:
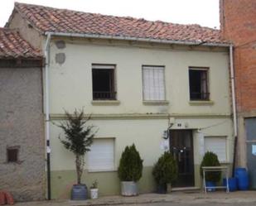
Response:
POLYGON ((114 138, 94 138, 88 156, 88 170, 114 170, 114 138))

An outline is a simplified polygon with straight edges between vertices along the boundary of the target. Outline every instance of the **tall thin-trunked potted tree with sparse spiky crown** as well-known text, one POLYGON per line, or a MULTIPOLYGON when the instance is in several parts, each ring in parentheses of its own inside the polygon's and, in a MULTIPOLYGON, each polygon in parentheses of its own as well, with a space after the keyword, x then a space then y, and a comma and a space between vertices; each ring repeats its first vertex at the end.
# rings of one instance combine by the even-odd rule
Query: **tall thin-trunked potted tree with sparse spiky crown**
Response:
POLYGON ((89 151, 97 131, 94 131, 94 126, 87 125, 90 117, 85 118, 83 110, 78 112, 75 109, 73 114, 65 111, 65 117, 67 119, 65 122, 55 125, 60 127, 65 133, 64 139, 59 137, 60 142, 65 146, 65 149, 73 152, 75 155, 77 184, 73 185, 71 199, 87 199, 87 187, 81 183, 81 177, 85 166, 85 154, 89 151))

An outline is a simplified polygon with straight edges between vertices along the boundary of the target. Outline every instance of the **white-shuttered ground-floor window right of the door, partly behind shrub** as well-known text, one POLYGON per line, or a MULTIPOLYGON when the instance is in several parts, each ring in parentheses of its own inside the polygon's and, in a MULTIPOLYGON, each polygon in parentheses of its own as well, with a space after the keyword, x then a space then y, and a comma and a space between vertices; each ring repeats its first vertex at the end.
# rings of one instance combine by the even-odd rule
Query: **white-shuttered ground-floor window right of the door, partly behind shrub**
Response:
POLYGON ((212 151, 220 162, 227 161, 227 138, 226 137, 205 137, 205 152, 212 151))

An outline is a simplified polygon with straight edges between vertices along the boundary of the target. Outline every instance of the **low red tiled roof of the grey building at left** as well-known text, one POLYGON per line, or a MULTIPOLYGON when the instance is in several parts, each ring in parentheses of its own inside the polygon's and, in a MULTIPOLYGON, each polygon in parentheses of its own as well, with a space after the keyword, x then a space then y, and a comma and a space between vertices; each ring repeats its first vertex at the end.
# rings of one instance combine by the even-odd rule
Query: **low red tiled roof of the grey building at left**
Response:
POLYGON ((41 59, 41 57, 40 51, 25 41, 17 30, 0 28, 0 59, 41 59))

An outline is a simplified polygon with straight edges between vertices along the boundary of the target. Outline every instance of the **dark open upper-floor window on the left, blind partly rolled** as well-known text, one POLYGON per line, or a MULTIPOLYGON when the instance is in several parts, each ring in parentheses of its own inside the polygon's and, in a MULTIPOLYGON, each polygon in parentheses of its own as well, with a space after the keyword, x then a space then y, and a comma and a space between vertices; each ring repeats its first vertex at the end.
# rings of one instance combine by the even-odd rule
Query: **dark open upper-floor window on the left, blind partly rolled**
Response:
POLYGON ((115 100, 115 65, 92 65, 93 99, 115 100))

